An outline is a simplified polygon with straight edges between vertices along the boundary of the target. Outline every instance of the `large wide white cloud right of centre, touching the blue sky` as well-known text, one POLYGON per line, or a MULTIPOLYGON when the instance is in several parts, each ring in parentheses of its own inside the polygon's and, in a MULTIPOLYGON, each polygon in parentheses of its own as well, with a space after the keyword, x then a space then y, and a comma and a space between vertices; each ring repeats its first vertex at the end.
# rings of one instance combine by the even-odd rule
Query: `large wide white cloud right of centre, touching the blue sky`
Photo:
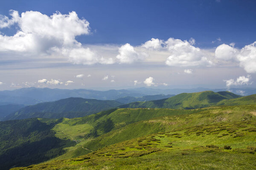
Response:
POLYGON ((207 54, 186 40, 169 38, 165 43, 166 48, 171 53, 166 60, 166 65, 183 67, 212 65, 212 61, 207 58, 207 54))

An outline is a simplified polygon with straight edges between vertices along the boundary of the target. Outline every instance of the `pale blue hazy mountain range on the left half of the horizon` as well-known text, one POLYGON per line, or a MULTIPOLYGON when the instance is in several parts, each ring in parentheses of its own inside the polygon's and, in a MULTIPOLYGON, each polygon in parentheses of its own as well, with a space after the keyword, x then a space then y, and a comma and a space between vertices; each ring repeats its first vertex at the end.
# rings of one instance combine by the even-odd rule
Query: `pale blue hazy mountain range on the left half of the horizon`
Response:
POLYGON ((85 99, 114 100, 125 96, 141 97, 145 94, 128 90, 95 91, 87 89, 50 89, 50 88, 20 88, 13 91, 0 91, 0 102, 12 102, 22 105, 35 105, 40 102, 50 102, 69 97, 85 99))

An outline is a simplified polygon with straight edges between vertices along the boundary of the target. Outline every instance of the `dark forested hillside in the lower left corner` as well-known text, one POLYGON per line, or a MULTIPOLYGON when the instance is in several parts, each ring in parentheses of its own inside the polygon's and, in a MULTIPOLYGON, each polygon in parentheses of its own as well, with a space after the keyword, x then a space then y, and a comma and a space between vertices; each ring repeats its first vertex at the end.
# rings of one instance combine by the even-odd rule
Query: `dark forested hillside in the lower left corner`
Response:
POLYGON ((69 139, 55 137, 53 126, 38 119, 0 122, 1 170, 49 160, 75 144, 69 139))

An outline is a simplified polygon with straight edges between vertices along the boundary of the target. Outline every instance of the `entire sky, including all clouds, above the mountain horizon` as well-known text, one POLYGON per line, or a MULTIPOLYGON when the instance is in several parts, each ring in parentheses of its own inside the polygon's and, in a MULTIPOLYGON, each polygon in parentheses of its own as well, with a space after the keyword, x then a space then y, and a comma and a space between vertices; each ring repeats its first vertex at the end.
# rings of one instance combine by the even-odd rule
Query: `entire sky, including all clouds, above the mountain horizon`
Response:
POLYGON ((2 1, 0 90, 253 87, 255 7, 254 0, 2 1))

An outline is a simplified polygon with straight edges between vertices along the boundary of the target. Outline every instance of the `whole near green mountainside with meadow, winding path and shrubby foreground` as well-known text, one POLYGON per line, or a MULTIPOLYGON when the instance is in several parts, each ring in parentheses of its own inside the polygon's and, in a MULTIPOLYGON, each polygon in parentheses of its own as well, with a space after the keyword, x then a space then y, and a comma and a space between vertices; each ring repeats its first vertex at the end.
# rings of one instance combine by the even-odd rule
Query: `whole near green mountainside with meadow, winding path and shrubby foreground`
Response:
POLYGON ((256 105, 124 108, 61 119, 52 128, 55 136, 76 140, 76 146, 51 161, 13 170, 211 169, 212 164, 216 169, 254 169, 255 110, 256 105))

